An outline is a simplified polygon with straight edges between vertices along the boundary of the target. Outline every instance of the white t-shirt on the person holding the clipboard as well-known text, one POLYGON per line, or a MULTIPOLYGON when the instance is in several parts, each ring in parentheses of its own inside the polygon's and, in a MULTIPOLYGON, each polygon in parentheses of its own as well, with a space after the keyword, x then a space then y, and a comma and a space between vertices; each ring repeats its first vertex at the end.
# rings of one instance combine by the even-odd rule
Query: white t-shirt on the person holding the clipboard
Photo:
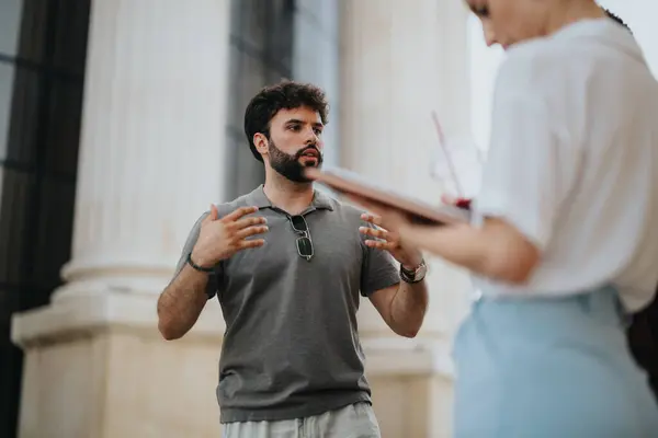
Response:
POLYGON ((628 31, 571 24, 508 50, 474 206, 542 251, 527 284, 485 295, 560 296, 615 285, 631 311, 658 284, 658 83, 628 31))

